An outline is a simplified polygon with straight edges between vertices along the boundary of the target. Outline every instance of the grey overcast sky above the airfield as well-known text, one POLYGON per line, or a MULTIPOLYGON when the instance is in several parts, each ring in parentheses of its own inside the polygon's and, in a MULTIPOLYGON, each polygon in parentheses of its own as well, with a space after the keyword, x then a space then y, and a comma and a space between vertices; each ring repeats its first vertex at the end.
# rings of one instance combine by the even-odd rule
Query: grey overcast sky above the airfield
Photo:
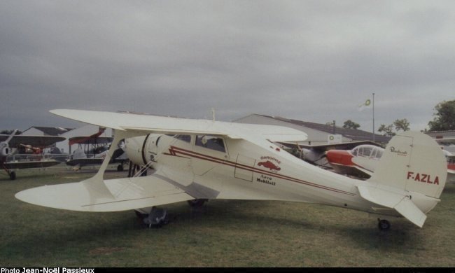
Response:
POLYGON ((0 1, 0 130, 50 109, 316 123, 407 118, 455 99, 455 1, 0 1))

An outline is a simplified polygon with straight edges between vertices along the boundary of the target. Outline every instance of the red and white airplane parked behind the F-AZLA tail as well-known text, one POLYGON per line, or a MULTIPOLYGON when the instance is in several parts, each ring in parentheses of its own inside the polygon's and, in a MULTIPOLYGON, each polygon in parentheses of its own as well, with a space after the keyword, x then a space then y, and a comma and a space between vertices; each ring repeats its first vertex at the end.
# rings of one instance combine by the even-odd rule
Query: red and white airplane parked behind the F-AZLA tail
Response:
MULTIPOLYGON (((393 147, 391 147, 393 149, 393 147)), ((447 161, 447 183, 455 183, 455 155, 442 150, 447 161)), ((359 145, 352 150, 329 150, 325 158, 339 174, 370 177, 379 165, 384 148, 359 145)))

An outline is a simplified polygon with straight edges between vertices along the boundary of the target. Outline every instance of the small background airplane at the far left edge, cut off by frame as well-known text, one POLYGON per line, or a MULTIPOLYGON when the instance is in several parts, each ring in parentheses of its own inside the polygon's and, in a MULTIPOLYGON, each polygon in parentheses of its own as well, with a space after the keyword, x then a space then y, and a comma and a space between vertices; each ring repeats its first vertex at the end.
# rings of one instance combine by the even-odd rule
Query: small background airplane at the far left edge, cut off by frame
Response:
POLYGON ((51 136, 21 136, 17 130, 10 135, 0 135, 0 162, 3 170, 15 180, 13 169, 45 168, 57 165, 60 162, 46 158, 44 148, 64 141, 64 137, 51 136))

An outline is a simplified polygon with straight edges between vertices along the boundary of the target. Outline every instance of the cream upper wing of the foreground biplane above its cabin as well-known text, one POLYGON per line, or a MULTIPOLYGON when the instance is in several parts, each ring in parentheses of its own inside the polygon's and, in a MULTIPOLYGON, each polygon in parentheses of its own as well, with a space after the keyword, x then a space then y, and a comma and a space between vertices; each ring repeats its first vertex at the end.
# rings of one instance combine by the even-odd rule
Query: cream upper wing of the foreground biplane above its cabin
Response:
POLYGON ((103 111, 52 110, 50 113, 83 123, 109 127, 120 131, 143 132, 144 134, 149 132, 160 134, 213 134, 224 135, 232 139, 248 139, 250 141, 267 139, 272 142, 304 141, 307 139, 307 134, 304 132, 289 127, 272 125, 225 123, 212 120, 103 111))

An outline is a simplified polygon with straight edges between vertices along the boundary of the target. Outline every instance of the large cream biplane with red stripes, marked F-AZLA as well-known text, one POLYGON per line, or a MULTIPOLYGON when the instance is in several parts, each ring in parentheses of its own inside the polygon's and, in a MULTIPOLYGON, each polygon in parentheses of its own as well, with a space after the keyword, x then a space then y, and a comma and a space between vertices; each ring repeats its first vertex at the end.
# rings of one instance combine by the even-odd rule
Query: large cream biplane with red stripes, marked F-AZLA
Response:
MULTIPOLYGON (((371 179, 359 181, 310 165, 273 144, 302 141, 292 128, 145 116, 52 110, 115 130, 99 172, 85 181, 23 190, 16 198, 73 211, 136 210, 158 223, 155 206, 190 200, 283 200, 402 216, 422 227, 440 202, 447 165, 433 139, 406 132, 391 139, 371 179), (153 167, 149 176, 104 180, 116 144, 126 139, 130 160, 153 167), (398 153, 399 152, 399 153, 398 153)), ((390 228, 378 219, 381 230, 390 228)))

